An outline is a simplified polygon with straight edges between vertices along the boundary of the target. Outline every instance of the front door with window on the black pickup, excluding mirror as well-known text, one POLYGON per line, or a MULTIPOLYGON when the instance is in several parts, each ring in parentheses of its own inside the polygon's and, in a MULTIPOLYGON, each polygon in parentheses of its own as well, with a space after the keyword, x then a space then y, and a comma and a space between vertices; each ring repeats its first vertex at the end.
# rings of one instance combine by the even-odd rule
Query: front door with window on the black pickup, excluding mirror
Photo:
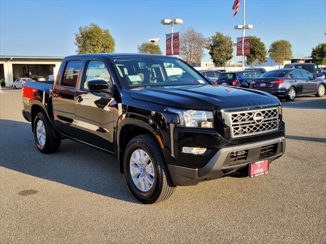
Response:
POLYGON ((114 152, 114 99, 104 93, 90 92, 87 82, 113 82, 104 59, 90 59, 75 93, 76 139, 114 152))

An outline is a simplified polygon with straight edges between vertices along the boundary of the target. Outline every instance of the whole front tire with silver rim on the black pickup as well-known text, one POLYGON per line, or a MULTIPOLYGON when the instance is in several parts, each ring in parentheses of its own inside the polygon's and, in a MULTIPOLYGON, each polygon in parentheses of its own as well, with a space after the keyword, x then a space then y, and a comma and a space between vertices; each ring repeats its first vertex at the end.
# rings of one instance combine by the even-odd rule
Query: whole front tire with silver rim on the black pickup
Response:
POLYGON ((162 151, 151 135, 136 136, 130 140, 123 167, 131 193, 143 203, 164 201, 176 188, 162 151))

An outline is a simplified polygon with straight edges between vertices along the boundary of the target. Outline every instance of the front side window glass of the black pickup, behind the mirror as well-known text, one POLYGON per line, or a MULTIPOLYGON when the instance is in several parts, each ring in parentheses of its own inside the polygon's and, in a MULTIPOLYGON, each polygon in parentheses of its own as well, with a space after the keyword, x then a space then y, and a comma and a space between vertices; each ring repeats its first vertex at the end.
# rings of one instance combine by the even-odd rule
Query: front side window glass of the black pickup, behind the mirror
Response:
POLYGON ((110 73, 108 73, 105 64, 102 61, 92 60, 87 65, 83 88, 88 89, 87 82, 90 80, 104 80, 108 82, 110 78, 110 73))

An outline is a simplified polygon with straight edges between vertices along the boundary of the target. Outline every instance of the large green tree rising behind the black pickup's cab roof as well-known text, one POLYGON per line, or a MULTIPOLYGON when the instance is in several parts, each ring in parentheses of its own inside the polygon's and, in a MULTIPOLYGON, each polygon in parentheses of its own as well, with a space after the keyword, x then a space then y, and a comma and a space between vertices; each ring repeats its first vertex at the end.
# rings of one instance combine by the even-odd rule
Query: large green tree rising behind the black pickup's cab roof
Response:
POLYGON ((75 40, 78 54, 114 52, 116 45, 108 29, 102 29, 94 23, 89 26, 80 26, 78 33, 75 33, 75 40))

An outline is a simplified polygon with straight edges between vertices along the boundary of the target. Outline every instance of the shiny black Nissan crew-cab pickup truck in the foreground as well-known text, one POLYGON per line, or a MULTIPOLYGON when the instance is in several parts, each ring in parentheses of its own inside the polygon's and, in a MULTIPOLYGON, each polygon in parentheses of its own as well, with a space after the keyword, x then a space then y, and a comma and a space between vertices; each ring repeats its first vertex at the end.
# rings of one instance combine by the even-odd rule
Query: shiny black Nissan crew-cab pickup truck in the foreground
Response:
POLYGON ((54 85, 25 83, 22 113, 42 153, 68 138, 116 156, 144 203, 167 199, 176 186, 265 174, 285 151, 276 97, 212 85, 176 57, 68 56, 54 85))

